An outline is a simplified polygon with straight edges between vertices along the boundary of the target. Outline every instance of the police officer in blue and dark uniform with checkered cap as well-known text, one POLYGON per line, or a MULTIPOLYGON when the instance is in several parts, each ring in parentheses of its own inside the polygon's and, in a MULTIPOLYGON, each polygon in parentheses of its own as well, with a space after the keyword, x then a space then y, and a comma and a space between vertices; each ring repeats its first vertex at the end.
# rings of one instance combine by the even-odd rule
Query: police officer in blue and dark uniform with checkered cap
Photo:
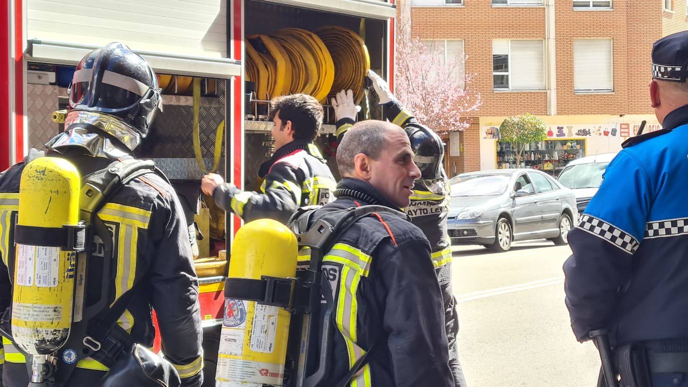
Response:
POLYGON ((583 342, 608 330, 622 386, 688 386, 687 77, 688 31, 656 41, 649 96, 663 129, 624 142, 568 234, 573 331, 583 342))

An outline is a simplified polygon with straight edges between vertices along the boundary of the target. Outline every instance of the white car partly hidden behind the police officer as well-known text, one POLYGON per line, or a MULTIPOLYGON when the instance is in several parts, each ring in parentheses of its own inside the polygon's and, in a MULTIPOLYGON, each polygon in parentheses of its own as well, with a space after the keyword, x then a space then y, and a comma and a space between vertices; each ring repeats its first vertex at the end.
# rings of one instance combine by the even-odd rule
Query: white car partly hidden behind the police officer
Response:
POLYGON ((616 153, 586 156, 575 159, 563 168, 557 180, 576 194, 576 208, 580 214, 588 207, 590 199, 602 184, 602 175, 616 153))

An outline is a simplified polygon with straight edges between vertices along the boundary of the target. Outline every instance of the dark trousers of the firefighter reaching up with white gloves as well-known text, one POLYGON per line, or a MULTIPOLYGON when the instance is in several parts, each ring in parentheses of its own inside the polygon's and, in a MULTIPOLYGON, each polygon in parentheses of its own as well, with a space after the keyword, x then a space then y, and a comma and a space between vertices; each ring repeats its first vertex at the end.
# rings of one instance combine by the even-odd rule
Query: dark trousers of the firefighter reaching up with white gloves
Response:
POLYGON ((459 359, 459 347, 457 338, 459 335, 459 314, 456 310, 456 298, 451 288, 451 263, 447 263, 440 269, 440 290, 444 301, 444 324, 447 329, 447 340, 449 341, 449 368, 454 376, 456 387, 466 387, 466 378, 461 368, 459 359))

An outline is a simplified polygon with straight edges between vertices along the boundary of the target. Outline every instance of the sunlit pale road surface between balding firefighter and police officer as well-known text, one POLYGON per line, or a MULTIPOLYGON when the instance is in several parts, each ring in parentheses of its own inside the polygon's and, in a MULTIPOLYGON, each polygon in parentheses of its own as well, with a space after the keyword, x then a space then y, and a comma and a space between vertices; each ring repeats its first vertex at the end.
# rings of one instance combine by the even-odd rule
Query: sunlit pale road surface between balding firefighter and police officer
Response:
POLYGON ((506 253, 453 247, 459 351, 471 387, 596 386, 599 355, 580 344, 564 305, 568 246, 515 243, 506 253))

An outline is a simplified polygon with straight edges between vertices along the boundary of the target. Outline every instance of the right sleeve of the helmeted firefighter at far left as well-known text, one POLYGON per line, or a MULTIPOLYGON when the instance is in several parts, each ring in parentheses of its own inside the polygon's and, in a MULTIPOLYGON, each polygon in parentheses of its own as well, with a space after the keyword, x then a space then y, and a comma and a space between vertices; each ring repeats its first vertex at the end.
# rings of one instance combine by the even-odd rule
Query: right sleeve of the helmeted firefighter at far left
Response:
POLYGON ((202 329, 189 234, 177 195, 158 198, 149 227, 149 232, 158 233, 151 235, 155 249, 149 270, 151 305, 158 316, 165 357, 183 368, 182 386, 197 387, 203 382, 202 329))

